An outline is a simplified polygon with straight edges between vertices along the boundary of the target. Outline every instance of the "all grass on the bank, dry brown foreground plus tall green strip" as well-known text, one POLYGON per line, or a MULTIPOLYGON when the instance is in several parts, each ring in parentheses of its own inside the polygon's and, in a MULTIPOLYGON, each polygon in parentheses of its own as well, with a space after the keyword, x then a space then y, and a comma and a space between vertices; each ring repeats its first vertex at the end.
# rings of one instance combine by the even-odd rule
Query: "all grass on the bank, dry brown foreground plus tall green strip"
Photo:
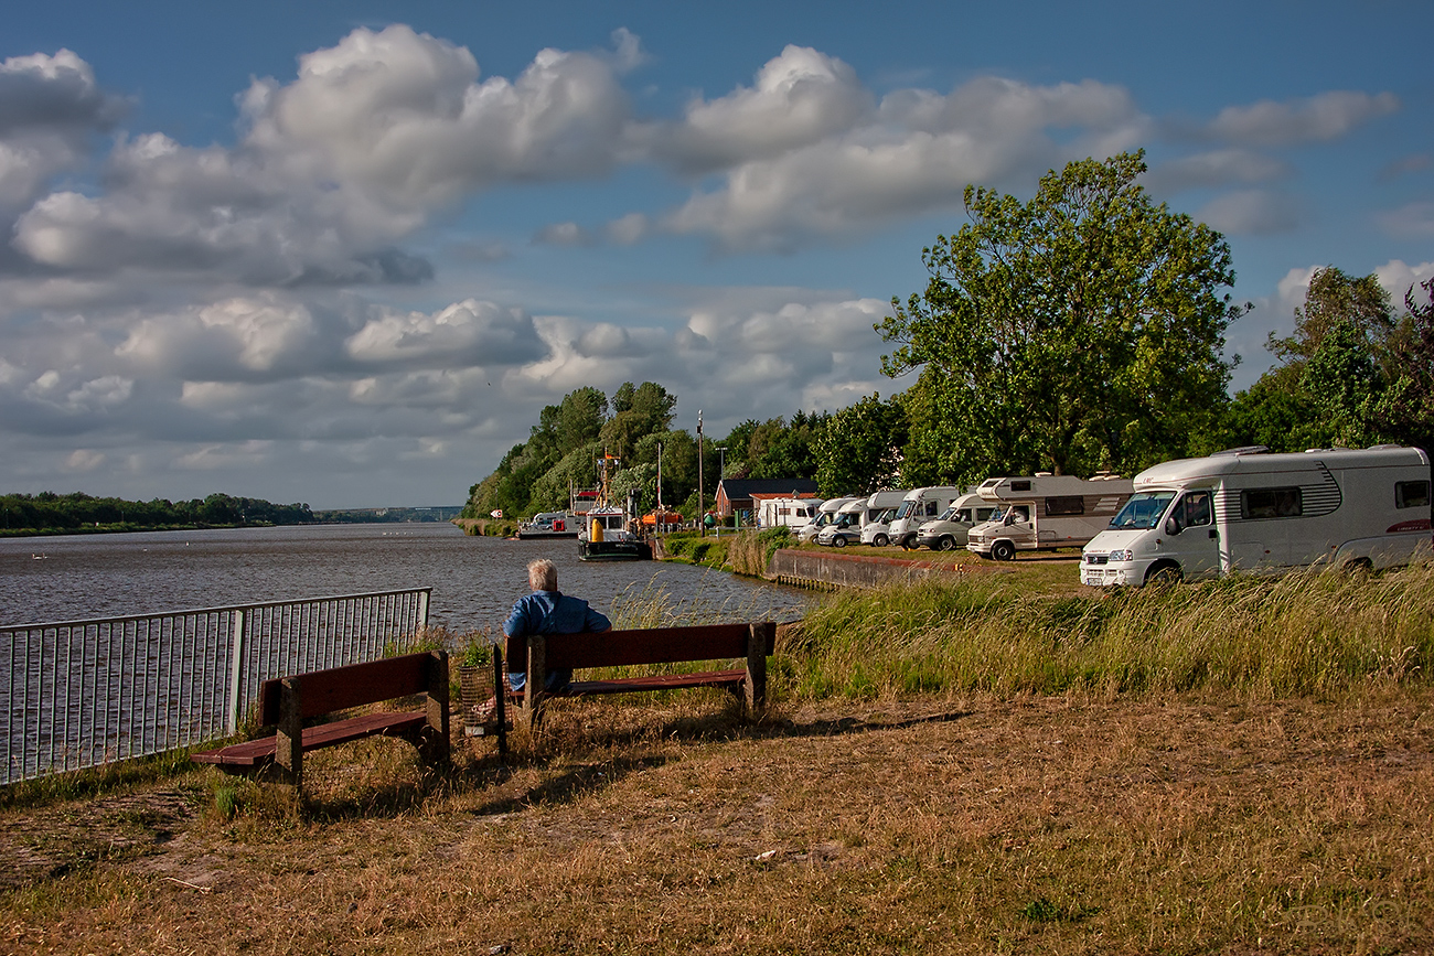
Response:
POLYGON ((0 950, 1430 952, 1431 605, 1428 568, 836 595, 756 718, 558 701, 508 764, 455 721, 450 770, 361 741, 303 803, 0 808, 0 950))

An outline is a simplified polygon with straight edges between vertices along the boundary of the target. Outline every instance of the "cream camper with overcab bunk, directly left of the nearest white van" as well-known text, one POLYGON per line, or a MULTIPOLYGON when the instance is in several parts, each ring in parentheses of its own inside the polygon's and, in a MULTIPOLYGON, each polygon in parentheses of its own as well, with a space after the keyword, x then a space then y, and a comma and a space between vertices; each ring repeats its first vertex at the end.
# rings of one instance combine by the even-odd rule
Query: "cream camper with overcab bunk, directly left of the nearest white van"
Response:
POLYGON ((1110 525, 1133 490, 1130 479, 1116 474, 987 479, 977 493, 1001 510, 967 532, 967 549, 1011 560, 1018 550, 1080 548, 1110 525))

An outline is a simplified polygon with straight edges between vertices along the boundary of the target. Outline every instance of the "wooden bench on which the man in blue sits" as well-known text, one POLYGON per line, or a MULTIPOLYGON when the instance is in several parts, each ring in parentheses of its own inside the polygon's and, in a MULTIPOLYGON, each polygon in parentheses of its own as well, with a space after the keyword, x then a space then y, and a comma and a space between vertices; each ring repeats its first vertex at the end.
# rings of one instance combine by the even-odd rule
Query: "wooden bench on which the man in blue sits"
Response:
POLYGON ((777 625, 713 623, 688 628, 640 628, 601 634, 549 634, 508 639, 509 666, 526 661, 526 688, 522 708, 529 727, 542 720, 548 697, 589 697, 595 694, 634 694, 671 691, 688 687, 717 687, 737 695, 747 708, 766 704, 767 658, 776 649, 777 625), (737 658, 744 666, 694 674, 657 674, 607 681, 574 681, 555 691, 543 691, 548 671, 628 666, 637 664, 685 664, 737 658))

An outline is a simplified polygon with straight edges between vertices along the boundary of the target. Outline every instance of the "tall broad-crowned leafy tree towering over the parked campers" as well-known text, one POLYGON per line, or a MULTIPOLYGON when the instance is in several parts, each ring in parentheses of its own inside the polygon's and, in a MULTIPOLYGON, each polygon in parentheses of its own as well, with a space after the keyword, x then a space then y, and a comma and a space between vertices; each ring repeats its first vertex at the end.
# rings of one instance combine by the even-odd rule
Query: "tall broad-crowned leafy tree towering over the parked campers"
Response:
POLYGON ((921 373, 906 459, 923 477, 1131 472, 1220 413, 1230 251, 1152 202, 1144 169, 1143 152, 1073 162, 1030 202, 967 188, 969 222, 922 251, 926 290, 876 325, 898 344, 883 371, 921 373))

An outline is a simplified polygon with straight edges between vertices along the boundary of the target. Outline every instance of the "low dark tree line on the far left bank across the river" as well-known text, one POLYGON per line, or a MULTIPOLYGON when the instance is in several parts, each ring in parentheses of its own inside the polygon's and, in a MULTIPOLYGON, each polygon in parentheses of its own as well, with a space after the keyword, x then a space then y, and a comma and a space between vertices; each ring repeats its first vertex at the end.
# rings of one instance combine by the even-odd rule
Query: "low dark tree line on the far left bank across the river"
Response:
POLYGON ((211 494, 189 502, 126 502, 82 492, 0 496, 0 532, 54 533, 79 530, 153 530, 163 527, 234 527, 241 525, 308 525, 308 505, 274 505, 257 497, 211 494))

